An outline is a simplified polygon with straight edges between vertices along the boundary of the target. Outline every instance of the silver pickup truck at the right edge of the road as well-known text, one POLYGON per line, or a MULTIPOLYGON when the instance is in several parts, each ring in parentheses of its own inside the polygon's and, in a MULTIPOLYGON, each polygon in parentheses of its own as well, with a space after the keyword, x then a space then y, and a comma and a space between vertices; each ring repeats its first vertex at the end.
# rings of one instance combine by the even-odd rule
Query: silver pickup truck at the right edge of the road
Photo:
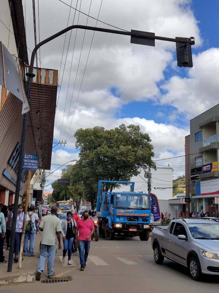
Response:
POLYGON ((174 218, 169 226, 152 230, 154 259, 164 258, 188 267, 193 280, 202 274, 219 275, 219 223, 214 219, 174 218))

